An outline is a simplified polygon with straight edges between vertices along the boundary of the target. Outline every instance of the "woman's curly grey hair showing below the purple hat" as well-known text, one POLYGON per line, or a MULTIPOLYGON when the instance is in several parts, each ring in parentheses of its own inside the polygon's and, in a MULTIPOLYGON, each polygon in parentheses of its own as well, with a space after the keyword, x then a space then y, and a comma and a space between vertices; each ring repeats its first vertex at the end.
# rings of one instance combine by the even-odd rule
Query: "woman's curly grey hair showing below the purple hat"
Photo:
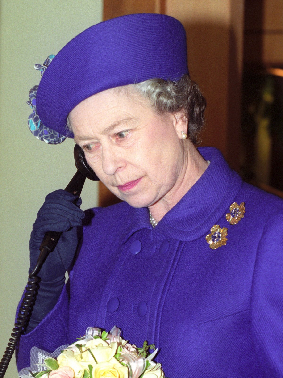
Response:
MULTIPOLYGON (((184 74, 178 81, 164 79, 149 79, 137 84, 118 87, 117 90, 133 89, 139 95, 149 100, 152 107, 159 113, 178 112, 184 109, 188 119, 187 136, 193 144, 199 144, 199 133, 204 127, 204 111, 206 100, 198 85, 189 75, 184 74)), ((68 119, 66 127, 71 130, 68 119)))

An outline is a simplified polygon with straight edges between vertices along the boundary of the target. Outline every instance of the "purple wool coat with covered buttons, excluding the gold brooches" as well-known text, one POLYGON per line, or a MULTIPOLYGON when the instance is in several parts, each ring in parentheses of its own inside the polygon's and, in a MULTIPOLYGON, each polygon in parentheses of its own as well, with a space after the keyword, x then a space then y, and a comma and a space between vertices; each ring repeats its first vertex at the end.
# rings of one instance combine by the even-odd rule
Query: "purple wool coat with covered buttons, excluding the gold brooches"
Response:
POLYGON ((283 200, 244 183, 218 150, 199 152, 209 167, 156 228, 147 208, 92 209, 59 301, 20 339, 19 369, 34 345, 53 352, 116 325, 154 343, 169 378, 283 377, 283 200), (233 202, 246 208, 237 225, 225 217, 233 202), (213 225, 228 229, 215 250, 213 225))

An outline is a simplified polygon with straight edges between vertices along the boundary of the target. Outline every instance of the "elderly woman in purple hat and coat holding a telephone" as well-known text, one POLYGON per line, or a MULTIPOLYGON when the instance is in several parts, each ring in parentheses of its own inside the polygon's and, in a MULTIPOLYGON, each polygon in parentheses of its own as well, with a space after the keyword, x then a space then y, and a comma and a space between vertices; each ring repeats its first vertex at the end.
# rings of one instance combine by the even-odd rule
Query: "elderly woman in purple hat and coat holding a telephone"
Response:
POLYGON ((205 100, 186 57, 177 20, 134 14, 38 67, 32 132, 74 137, 123 201, 86 212, 80 234, 80 202, 46 197, 31 268, 44 233, 63 236, 40 271, 19 369, 34 345, 53 352, 88 326, 117 325, 154 343, 170 378, 283 377, 283 201, 243 183, 218 150, 196 149, 205 100))

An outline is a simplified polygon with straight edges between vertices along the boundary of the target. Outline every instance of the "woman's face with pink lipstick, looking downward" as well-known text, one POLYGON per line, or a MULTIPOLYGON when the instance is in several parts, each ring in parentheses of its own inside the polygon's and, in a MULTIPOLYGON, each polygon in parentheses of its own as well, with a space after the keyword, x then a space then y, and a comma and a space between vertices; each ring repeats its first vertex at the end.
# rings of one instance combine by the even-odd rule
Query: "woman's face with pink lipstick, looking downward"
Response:
POLYGON ((184 168, 184 117, 157 114, 137 94, 109 89, 69 115, 74 140, 99 179, 134 207, 166 199, 184 168))

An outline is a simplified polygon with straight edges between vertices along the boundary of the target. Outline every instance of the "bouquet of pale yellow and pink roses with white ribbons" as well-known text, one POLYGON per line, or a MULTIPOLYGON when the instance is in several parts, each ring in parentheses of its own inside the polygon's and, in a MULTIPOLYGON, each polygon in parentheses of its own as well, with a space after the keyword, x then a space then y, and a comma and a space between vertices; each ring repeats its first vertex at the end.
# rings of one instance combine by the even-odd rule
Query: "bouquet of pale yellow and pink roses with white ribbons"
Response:
MULTIPOLYGON (((154 345, 147 345, 145 341, 144 345, 138 348, 122 339, 120 335, 121 331, 116 326, 109 333, 101 332, 99 328, 88 327, 85 336, 77 339, 74 344, 63 346, 57 358, 54 358, 54 355, 48 357, 48 353, 45 352, 47 358, 43 364, 37 364, 37 372, 23 369, 20 377, 164 378, 161 364, 153 362, 157 352, 154 345), (151 354, 150 349, 154 350, 151 354)), ((42 352, 40 351, 41 355, 44 355, 42 352)))

